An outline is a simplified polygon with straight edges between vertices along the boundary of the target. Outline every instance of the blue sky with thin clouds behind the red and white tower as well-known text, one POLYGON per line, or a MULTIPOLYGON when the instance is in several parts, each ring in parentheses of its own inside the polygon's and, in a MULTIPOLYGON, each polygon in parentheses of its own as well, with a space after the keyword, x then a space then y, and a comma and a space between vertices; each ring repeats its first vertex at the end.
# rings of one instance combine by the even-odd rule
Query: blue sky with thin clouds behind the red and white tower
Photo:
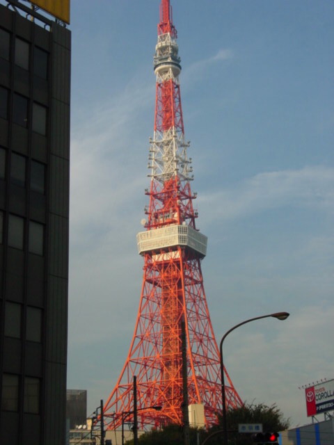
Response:
MULTIPOLYGON (((333 373, 334 3, 172 0, 202 262, 244 401, 308 421, 301 385, 333 373)), ((88 414, 132 339, 143 261, 159 0, 72 0, 67 386, 88 414)))

